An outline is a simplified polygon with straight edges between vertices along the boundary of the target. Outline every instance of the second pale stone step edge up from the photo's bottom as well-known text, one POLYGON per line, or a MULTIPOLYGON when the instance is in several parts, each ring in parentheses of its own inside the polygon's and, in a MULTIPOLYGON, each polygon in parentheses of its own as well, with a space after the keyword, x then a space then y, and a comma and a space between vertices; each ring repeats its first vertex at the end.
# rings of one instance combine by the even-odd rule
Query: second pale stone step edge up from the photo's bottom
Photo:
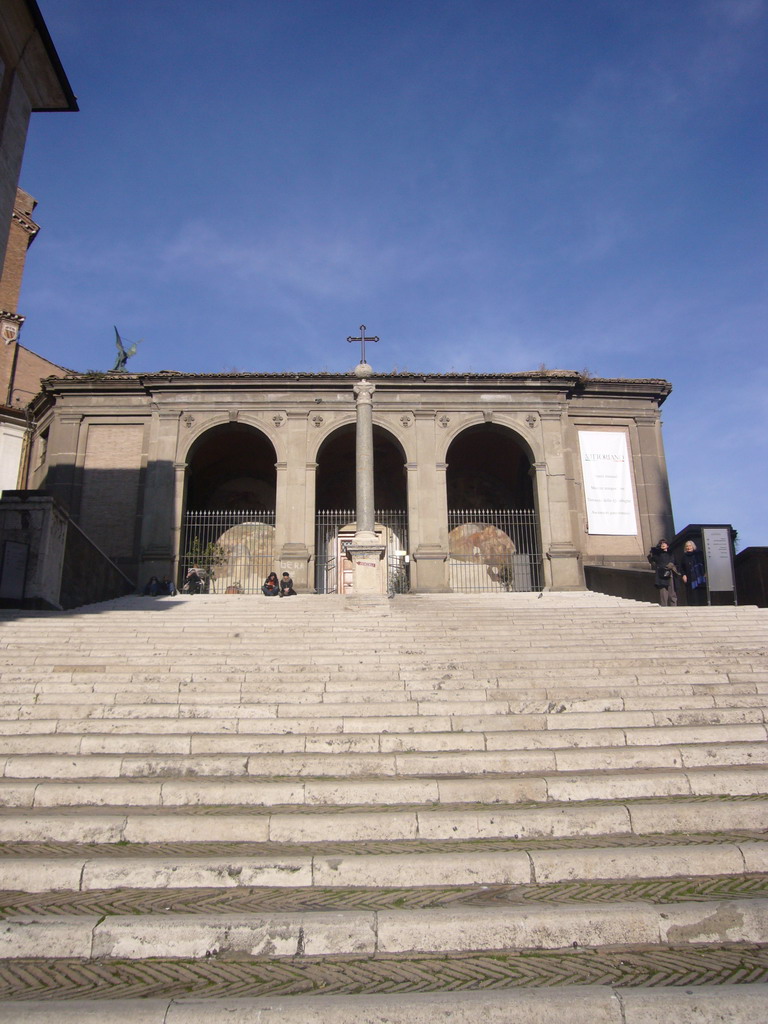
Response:
POLYGON ((768 943, 768 900, 253 914, 6 915, 2 958, 295 957, 768 943), (574 938, 575 937, 575 938, 574 938))

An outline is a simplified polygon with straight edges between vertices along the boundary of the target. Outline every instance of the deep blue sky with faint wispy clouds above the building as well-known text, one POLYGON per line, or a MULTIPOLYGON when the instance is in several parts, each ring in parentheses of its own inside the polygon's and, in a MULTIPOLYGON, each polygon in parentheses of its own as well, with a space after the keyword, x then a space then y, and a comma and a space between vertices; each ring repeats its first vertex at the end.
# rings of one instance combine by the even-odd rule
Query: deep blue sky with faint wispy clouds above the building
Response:
POLYGON ((664 377, 768 544, 766 0, 39 0, 23 342, 106 370, 664 377))

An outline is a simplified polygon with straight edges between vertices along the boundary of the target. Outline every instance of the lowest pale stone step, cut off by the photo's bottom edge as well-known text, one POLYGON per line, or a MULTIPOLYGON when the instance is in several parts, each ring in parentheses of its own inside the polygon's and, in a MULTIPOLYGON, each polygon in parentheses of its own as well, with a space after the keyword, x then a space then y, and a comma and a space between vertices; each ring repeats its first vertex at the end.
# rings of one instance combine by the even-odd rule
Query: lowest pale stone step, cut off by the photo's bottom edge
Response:
MULTIPOLYGON (((541 954, 540 959, 544 957, 546 954, 541 954)), ((690 964, 694 957, 688 954, 687 958, 680 959, 690 964)), ((697 959, 705 961, 705 956, 697 959)), ((383 966, 389 966, 392 973, 391 965, 385 963, 383 966)), ((399 966, 400 971, 396 973, 404 976, 409 965, 399 966)), ((162 965, 166 978, 173 973, 170 967, 162 965)), ((338 975, 338 966, 332 967, 337 969, 338 975)), ((396 971, 397 965, 394 967, 396 971)), ((434 978, 432 965, 426 967, 428 971, 432 969, 434 978)), ((141 981, 144 982, 141 987, 146 988, 147 973, 140 972, 136 988, 141 981)), ((724 1024, 726 1021, 728 1024, 757 1024, 768 1019, 768 985, 760 984, 687 989, 512 988, 490 992, 458 990, 303 998, 291 995, 236 998, 222 994, 217 999, 200 999, 184 997, 189 991, 191 972, 187 969, 177 973, 181 975, 178 984, 181 997, 110 999, 110 1024, 444 1024, 445 1021, 451 1024, 477 1024, 478 1021, 485 1024, 510 1024, 511 1021, 514 1024, 551 1024, 553 1020, 567 1020, 569 1024, 668 1024, 671 1020, 682 1024, 724 1024)), ((209 975, 213 973, 208 971, 209 975)), ((231 990, 236 973, 231 968, 221 972, 228 974, 228 980, 222 979, 215 985, 216 990, 221 988, 225 992, 227 984, 231 990)), ((328 976, 333 976, 330 970, 328 976)), ((486 972, 485 977, 490 978, 490 972, 486 972)), ((203 982, 201 987, 210 987, 210 979, 201 977, 200 980, 203 982)), ((459 981, 460 972, 457 971, 455 984, 459 981)), ((285 972, 281 972, 280 981, 275 983, 278 990, 280 983, 283 991, 289 987, 285 972)), ((350 980, 349 984, 351 988, 353 982, 350 980)), ((298 986, 297 989, 301 991, 298 986)), ((358 990, 352 988, 352 991, 358 990)), ((6 1002, 0 1005, 0 1022, 103 1024, 104 1007, 99 1001, 63 999, 6 1002)))

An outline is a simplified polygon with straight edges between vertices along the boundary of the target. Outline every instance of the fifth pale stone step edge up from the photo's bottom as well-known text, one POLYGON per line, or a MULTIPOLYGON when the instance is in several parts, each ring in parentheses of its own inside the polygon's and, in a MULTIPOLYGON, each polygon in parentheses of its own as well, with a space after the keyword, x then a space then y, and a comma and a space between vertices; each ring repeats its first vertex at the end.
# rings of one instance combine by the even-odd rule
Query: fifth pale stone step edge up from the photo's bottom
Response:
MULTIPOLYGON (((648 748, 649 755, 659 755, 666 748, 648 748)), ((577 752, 570 752, 571 757, 577 752)), ((588 752, 591 754, 592 752, 588 752)), ((634 755, 636 752, 630 752, 634 755)), ((604 761, 617 757, 605 752, 604 761)), ((500 759, 503 755, 500 755, 500 759)), ((512 757, 512 753, 506 755, 512 757)), ((529 774, 518 771, 513 775, 494 777, 472 775, 460 771, 455 775, 434 773, 414 777, 360 777, 343 775, 339 778, 294 778, 232 775, 223 762, 218 762, 222 774, 212 777, 163 776, 152 777, 71 777, 51 780, 49 777, 0 779, 0 801, 5 807, 183 807, 183 806, 248 806, 275 807, 299 805, 309 807, 344 807, 355 805, 388 806, 392 804, 519 804, 595 800, 633 800, 656 797, 688 796, 758 796, 768 795, 768 768, 743 766, 733 768, 707 767, 677 770, 660 768, 637 772, 632 768, 608 770, 597 765, 592 770, 558 774, 547 771, 552 755, 547 752, 526 752, 526 758, 541 758, 543 768, 526 762, 529 774), (461 777, 459 777, 461 776, 461 777)), ((563 755, 564 756, 564 755, 563 755)), ((365 757, 365 755, 360 755, 365 757)), ((414 758, 417 756, 415 755, 414 758)), ((18 759, 20 762, 24 759, 18 759)), ((73 759, 52 759, 65 769, 73 759)), ((101 760, 97 757, 94 761, 101 760)), ((122 759, 104 759, 122 764, 122 759)), ((234 759, 236 762, 238 759, 234 759)), ((35 759, 31 759, 34 763, 35 759)), ((426 773, 428 757, 422 756, 426 773)), ((75 764, 77 764, 75 760, 75 764)), ((168 762, 170 765, 170 762, 168 762)), ((194 770, 197 759, 186 762, 194 770)), ((169 770, 171 770, 169 768, 169 770)))

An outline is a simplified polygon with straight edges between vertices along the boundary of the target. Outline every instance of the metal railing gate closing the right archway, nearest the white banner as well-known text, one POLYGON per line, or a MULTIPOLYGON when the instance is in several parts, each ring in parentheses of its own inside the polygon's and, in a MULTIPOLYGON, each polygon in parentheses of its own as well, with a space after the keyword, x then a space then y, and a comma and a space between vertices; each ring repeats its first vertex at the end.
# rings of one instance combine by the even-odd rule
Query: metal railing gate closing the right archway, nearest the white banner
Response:
POLYGON ((465 594, 541 590, 536 512, 450 509, 449 582, 452 590, 465 594))

